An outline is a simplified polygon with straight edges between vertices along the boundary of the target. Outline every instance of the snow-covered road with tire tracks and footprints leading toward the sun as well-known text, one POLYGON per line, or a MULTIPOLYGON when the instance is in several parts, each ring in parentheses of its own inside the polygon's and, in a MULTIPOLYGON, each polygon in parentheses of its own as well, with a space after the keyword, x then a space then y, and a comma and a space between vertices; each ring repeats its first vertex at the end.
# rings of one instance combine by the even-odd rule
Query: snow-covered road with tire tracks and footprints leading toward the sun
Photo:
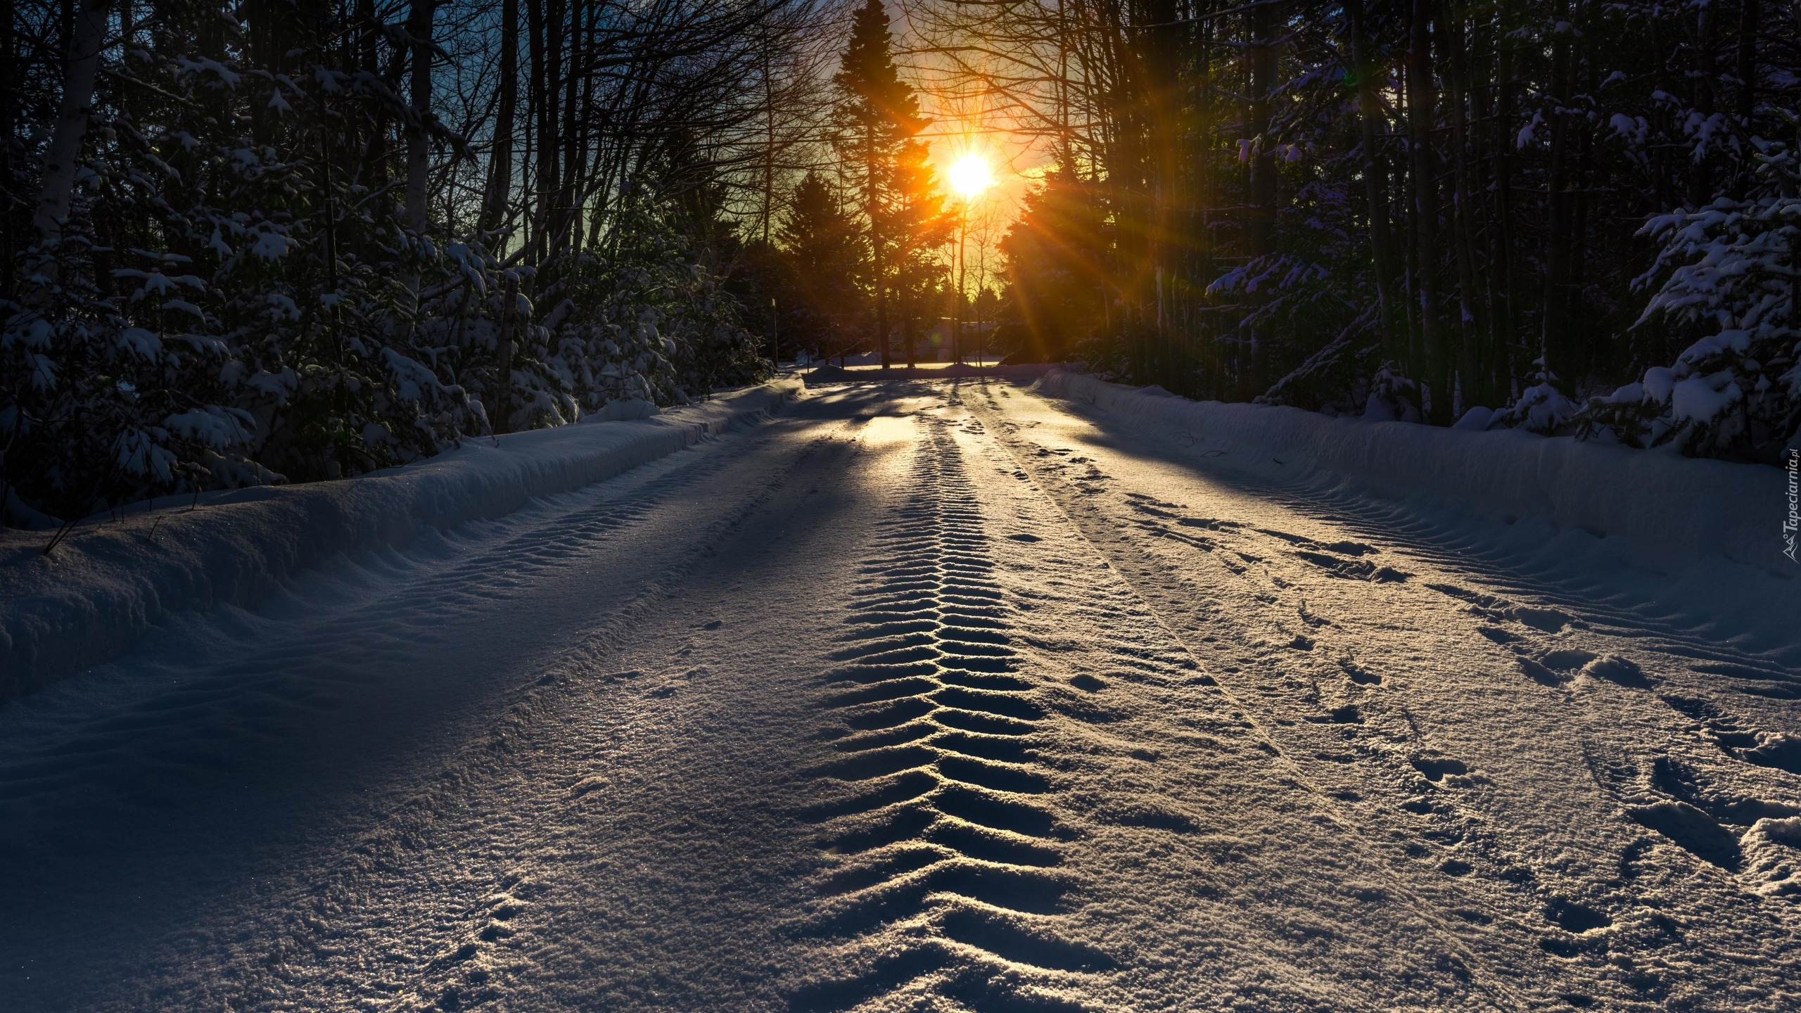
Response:
POLYGON ((1801 1008, 1794 633, 1181 443, 825 388, 169 624, 0 710, 0 1008, 1801 1008))

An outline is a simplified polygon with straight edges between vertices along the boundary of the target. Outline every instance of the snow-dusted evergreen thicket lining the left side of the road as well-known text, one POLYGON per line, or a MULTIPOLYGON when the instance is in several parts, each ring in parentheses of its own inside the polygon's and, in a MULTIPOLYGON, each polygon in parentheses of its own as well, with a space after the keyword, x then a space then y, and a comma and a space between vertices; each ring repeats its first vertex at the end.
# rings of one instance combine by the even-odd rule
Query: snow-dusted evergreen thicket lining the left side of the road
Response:
POLYGON ((70 211, 0 299, 9 525, 358 474, 767 377, 648 187, 537 265, 506 231, 409 227, 367 146, 412 128, 454 159, 463 141, 420 123, 398 78, 330 49, 254 67, 216 5, 167 11, 103 76, 70 211))

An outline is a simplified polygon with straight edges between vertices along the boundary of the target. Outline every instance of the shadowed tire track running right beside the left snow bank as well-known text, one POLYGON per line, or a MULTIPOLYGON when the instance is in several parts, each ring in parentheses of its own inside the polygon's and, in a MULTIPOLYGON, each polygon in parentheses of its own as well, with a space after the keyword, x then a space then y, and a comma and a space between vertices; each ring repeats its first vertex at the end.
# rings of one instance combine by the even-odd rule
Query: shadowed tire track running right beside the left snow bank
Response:
MULTIPOLYGON (((396 667, 405 667, 420 643, 443 636, 445 625, 504 607, 544 580, 580 571, 594 553, 641 537, 641 528, 665 521, 659 512, 670 501, 693 496, 697 485, 733 465, 724 452, 672 456, 620 481, 533 501, 513 517, 474 521, 434 535, 443 539, 441 548, 418 546, 353 559, 348 566, 339 562, 339 570, 351 570, 351 588, 342 600, 306 613, 301 624, 259 625, 252 651, 211 663, 180 656, 164 665, 171 674, 169 689, 115 705, 117 710, 99 717, 77 714, 67 725, 0 743, 0 851, 20 840, 36 844, 36 831, 14 831, 59 815, 67 818, 70 808, 133 799, 153 780, 193 777, 231 762, 238 752, 279 744, 285 734, 292 735, 295 714, 339 710, 344 687, 369 680, 357 672, 358 653, 382 651, 396 667), (443 548, 474 552, 441 562, 443 548), (389 582, 389 577, 398 579, 389 582), (358 586, 362 582, 384 593, 369 595, 358 586), (312 663, 295 665, 295 658, 312 663), (229 732, 209 728, 220 725, 231 725, 229 732), (220 744, 196 746, 196 737, 220 744), (101 802, 83 795, 94 793, 95 782, 108 784, 101 802), (77 806, 70 804, 72 795, 77 806)), ((308 577, 315 584, 346 580, 337 571, 308 577)), ((117 671, 130 662, 108 662, 99 671, 117 671)), ((58 840, 56 847, 79 844, 77 835, 72 842, 58 840)))

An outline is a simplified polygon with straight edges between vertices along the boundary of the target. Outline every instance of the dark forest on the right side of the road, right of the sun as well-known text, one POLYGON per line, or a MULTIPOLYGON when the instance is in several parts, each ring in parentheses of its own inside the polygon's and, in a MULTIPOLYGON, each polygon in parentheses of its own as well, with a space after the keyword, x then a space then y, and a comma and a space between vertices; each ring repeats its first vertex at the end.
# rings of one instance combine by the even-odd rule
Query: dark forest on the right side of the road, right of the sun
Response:
POLYGON ((1016 341, 1189 397, 1767 460, 1801 7, 944 4, 1052 146, 1016 341), (1086 279, 1088 283, 1073 283, 1086 279))

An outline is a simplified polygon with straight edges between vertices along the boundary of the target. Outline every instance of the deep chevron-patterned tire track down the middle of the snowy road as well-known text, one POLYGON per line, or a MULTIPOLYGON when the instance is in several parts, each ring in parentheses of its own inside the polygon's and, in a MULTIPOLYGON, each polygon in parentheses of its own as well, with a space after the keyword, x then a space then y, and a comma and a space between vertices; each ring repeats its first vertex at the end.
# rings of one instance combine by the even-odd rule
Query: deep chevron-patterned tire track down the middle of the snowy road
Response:
POLYGON ((974 1009, 1079 1006, 1018 979, 1070 979, 1115 966, 1059 934, 1072 889, 1063 842, 1039 800, 1057 780, 1036 737, 1048 717, 1007 634, 1007 604, 956 443, 920 447, 913 496, 864 562, 825 676, 843 723, 839 759, 816 771, 837 799, 816 806, 834 860, 828 896, 803 928, 848 939, 857 973, 812 982, 792 1009, 850 1009, 895 991, 937 993, 974 1009))

